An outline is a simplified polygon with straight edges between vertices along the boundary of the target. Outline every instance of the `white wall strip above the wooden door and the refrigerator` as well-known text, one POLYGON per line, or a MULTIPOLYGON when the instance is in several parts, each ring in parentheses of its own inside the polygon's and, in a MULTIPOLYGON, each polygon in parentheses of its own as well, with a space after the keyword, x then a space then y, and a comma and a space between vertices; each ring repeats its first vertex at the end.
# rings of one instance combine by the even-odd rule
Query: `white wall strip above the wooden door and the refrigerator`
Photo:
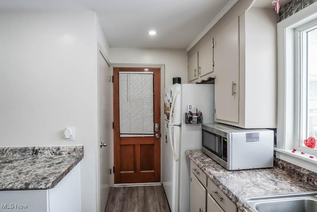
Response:
POLYGON ((109 58, 115 64, 164 64, 165 87, 173 83, 173 77, 187 83, 186 50, 110 48, 109 58))

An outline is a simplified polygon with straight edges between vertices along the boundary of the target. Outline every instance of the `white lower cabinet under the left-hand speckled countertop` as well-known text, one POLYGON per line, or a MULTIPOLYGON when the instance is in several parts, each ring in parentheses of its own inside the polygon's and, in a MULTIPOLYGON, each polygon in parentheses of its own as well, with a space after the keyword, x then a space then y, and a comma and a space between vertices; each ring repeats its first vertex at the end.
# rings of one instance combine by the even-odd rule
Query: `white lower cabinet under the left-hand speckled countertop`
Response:
POLYGON ((0 191, 0 212, 81 212, 80 166, 54 188, 0 191))

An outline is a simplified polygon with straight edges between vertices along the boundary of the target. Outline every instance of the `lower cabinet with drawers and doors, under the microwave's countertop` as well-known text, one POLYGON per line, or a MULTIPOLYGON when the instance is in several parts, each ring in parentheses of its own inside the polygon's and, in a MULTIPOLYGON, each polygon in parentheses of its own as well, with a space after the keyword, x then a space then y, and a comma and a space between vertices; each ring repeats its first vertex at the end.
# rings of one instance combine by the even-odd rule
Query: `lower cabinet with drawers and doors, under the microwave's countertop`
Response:
POLYGON ((225 194, 193 162, 190 163, 190 212, 237 212, 225 194))

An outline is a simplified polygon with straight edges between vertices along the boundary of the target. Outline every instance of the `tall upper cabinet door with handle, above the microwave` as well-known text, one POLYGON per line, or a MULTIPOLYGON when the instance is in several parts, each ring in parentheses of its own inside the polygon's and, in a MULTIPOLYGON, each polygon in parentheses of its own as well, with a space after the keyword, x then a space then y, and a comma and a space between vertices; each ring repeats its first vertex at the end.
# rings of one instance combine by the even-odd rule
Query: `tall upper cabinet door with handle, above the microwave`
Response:
POLYGON ((215 120, 239 123, 239 20, 214 37, 215 120))

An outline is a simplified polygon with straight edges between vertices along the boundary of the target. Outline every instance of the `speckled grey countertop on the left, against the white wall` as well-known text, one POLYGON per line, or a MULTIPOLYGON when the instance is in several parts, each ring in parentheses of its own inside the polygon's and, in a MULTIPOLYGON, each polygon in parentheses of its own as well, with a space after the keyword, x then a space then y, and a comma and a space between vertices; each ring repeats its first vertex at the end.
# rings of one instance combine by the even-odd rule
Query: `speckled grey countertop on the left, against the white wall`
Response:
POLYGON ((52 189, 83 157, 83 146, 0 147, 0 191, 52 189))

